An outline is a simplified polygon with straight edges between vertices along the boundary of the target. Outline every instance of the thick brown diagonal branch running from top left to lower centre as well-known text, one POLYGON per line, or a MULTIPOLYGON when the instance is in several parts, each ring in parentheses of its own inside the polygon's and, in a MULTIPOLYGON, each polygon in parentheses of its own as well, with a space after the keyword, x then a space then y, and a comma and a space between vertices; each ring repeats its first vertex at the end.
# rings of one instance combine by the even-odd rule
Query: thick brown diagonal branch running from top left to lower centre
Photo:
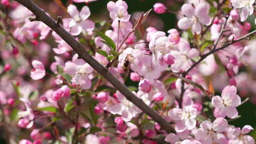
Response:
MULTIPOLYGON (((115 76, 113 76, 108 70, 106 71, 98 61, 96 61, 83 45, 77 42, 70 33, 68 33, 61 25, 58 27, 55 24, 55 20, 46 15, 45 11, 40 9, 32 0, 16 0, 21 3, 23 6, 27 7, 31 12, 36 15, 36 19, 38 21, 42 21, 48 27, 50 27, 53 31, 55 31, 71 48, 86 61, 89 65, 91 65, 94 70, 98 71, 102 76, 104 76, 118 91, 120 91, 129 101, 135 104, 138 108, 144 111, 148 116, 150 116, 155 122, 157 122, 162 129, 166 132, 171 133, 175 132, 174 128, 164 120, 159 114, 146 105, 140 98, 135 96, 123 83, 121 83, 115 76)), ((121 46, 121 45, 120 45, 121 46)))

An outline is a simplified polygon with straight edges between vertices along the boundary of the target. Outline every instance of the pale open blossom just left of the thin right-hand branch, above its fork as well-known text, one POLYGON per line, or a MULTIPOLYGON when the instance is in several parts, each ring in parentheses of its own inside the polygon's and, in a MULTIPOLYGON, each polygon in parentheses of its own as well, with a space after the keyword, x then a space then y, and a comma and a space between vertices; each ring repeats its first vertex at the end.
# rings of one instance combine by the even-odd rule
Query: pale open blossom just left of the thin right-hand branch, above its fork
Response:
POLYGON ((180 72, 180 70, 187 70, 189 66, 192 65, 191 58, 199 55, 197 49, 190 48, 188 42, 179 42, 178 49, 170 52, 174 56, 174 64, 171 65, 171 70, 175 73, 180 72))

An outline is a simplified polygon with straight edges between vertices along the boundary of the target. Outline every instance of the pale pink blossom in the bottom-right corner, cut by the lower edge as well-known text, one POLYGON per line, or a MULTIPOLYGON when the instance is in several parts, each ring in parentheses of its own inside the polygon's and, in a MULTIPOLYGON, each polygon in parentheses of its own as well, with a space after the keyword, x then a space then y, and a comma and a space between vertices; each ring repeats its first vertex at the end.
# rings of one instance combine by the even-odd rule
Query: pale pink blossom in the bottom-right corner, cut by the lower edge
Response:
POLYGON ((234 128, 231 132, 229 144, 255 144, 254 138, 246 135, 251 130, 253 128, 250 125, 245 125, 242 130, 240 128, 234 128))

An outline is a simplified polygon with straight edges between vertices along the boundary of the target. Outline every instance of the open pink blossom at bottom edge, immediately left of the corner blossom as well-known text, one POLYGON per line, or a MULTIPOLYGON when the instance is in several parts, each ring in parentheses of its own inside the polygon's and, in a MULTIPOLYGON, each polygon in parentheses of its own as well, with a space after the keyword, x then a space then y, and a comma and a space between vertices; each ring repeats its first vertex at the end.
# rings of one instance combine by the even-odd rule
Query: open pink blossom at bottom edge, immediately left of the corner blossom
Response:
POLYGON ((228 141, 221 133, 228 127, 228 121, 219 117, 212 122, 205 120, 200 124, 200 128, 194 132, 196 140, 202 144, 220 143, 226 144, 228 141))

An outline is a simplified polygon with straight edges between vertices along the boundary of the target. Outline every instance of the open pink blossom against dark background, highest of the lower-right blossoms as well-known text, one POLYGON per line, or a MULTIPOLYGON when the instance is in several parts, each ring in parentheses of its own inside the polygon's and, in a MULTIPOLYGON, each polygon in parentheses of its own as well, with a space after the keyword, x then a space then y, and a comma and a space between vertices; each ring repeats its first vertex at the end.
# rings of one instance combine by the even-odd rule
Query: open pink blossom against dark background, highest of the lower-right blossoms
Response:
POLYGON ((214 96, 211 100, 215 117, 229 117, 234 119, 238 116, 237 106, 241 104, 241 98, 237 95, 235 86, 226 86, 220 96, 214 96))

